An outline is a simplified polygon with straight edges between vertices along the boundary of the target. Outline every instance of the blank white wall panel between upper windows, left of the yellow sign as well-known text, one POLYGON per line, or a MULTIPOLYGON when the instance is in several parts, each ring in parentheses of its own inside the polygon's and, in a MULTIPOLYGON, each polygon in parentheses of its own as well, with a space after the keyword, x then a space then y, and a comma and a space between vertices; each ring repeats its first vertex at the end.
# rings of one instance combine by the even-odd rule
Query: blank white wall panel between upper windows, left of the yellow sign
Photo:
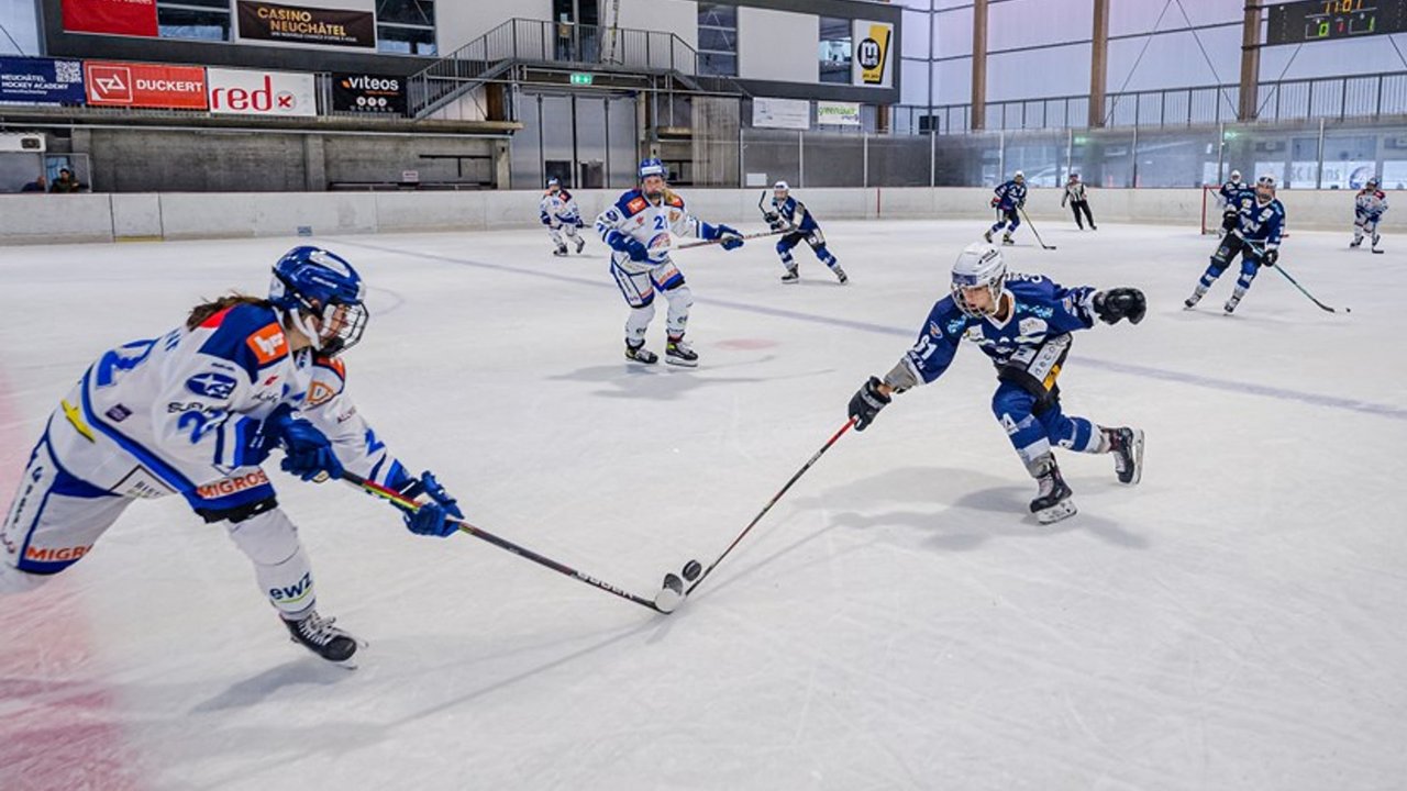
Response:
POLYGON ((737 8, 737 76, 749 80, 820 82, 820 17, 737 8))

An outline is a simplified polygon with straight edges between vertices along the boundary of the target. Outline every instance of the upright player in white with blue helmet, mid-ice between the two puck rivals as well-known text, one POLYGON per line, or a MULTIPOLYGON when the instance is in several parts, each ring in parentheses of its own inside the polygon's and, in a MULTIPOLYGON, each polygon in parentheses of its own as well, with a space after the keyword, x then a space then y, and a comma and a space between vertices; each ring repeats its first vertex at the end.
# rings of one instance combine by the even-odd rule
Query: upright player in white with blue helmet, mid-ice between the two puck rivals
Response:
POLYGON ((719 239, 725 251, 743 246, 743 235, 727 225, 709 225, 691 215, 684 198, 666 183, 664 163, 658 159, 642 160, 639 176, 637 189, 622 193, 615 204, 597 217, 597 232, 613 251, 611 274, 630 305, 630 315, 625 321, 625 356, 646 365, 658 360, 654 352, 644 348, 644 332, 654 318, 654 293, 658 290, 670 303, 664 362, 694 367, 699 356, 684 341, 694 293, 670 259, 671 234, 719 239))

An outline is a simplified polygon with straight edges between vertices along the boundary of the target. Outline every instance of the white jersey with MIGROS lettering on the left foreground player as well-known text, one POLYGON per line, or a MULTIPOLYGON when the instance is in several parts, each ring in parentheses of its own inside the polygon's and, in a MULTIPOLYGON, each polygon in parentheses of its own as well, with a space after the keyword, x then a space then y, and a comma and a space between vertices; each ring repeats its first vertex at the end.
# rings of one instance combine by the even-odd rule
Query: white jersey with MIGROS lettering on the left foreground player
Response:
POLYGON ((267 484, 250 441, 287 404, 332 441, 348 470, 400 486, 404 469, 343 396, 345 379, 336 359, 290 352, 273 308, 236 304, 89 367, 62 407, 104 453, 84 453, 103 460, 75 473, 128 497, 228 498, 267 484))

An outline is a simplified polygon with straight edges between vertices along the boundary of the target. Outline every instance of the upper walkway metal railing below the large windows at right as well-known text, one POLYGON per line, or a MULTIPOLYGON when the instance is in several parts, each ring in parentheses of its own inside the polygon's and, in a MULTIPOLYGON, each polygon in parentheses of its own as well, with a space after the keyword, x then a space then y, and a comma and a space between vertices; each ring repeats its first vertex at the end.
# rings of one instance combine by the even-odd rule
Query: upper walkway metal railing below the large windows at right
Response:
MULTIPOLYGON (((1234 122, 1240 86, 1110 93, 1104 100, 1104 127, 1192 127, 1234 122)), ((1271 80, 1256 87, 1261 121, 1300 118, 1377 118, 1407 114, 1407 72, 1271 80)), ((893 128, 902 134, 940 135, 971 131, 971 104, 895 107, 893 128)), ((1054 96, 1014 101, 989 101, 988 129, 1064 129, 1089 125, 1089 96, 1054 96)))

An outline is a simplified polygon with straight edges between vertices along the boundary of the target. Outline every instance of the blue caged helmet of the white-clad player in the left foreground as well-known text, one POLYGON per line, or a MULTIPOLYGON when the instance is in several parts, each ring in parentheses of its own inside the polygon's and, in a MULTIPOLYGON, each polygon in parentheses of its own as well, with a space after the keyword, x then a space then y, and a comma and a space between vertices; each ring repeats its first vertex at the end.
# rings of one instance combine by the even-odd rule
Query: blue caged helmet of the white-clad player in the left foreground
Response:
POLYGON ((329 357, 362 339, 370 318, 364 298, 362 276, 322 248, 293 248, 273 265, 269 301, 329 357))

